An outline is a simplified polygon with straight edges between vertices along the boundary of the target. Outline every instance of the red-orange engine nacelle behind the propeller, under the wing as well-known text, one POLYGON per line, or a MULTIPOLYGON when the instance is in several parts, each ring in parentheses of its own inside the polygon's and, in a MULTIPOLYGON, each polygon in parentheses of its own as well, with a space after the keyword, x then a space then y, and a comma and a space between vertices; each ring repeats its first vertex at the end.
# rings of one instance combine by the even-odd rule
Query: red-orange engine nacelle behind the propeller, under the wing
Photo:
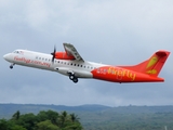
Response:
POLYGON ((72 55, 68 55, 66 52, 56 52, 55 58, 57 60, 75 60, 72 55))

